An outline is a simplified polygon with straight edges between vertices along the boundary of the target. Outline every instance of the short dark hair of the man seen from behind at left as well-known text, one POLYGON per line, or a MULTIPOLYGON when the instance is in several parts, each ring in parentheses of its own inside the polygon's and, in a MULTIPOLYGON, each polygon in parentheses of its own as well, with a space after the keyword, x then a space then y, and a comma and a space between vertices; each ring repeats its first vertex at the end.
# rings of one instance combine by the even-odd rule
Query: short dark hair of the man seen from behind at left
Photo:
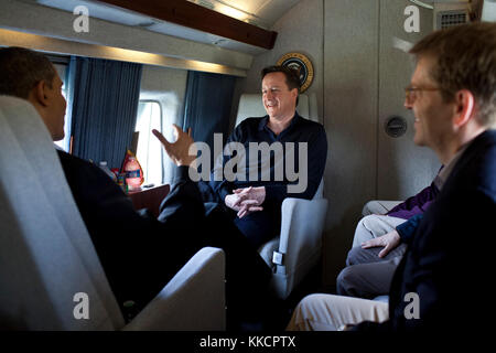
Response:
POLYGON ((50 60, 29 49, 0 49, 0 95, 28 99, 31 89, 41 81, 50 88, 55 69, 50 60))

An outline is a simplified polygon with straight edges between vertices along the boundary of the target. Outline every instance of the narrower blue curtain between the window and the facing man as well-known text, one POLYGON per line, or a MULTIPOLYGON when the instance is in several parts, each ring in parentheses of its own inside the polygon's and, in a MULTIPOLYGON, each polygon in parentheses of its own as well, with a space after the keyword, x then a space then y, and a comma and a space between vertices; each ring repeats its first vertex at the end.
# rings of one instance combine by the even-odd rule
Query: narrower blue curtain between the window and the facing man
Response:
POLYGON ((229 116, 236 77, 190 71, 187 73, 183 130, 192 128, 193 139, 211 147, 214 133, 223 133, 223 145, 229 132, 229 116))

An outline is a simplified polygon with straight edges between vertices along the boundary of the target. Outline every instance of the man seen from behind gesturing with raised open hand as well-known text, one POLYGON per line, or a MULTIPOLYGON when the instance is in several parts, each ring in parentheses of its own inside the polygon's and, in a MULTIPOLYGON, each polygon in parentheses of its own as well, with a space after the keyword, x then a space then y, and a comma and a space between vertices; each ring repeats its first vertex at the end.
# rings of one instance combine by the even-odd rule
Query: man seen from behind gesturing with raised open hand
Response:
MULTIPOLYGON (((0 49, 0 95, 29 100, 53 140, 62 139, 66 101, 51 62, 26 49, 7 47, 0 49)), ((155 133, 177 164, 176 179, 158 218, 134 211, 131 201, 98 167, 63 151, 58 157, 109 285, 128 319, 129 303, 134 303, 131 310, 137 313, 204 246, 226 253, 229 319, 263 296, 270 269, 220 207, 202 202, 197 185, 188 178, 188 165, 195 158, 188 156, 193 139, 174 128, 174 143, 155 133)))

